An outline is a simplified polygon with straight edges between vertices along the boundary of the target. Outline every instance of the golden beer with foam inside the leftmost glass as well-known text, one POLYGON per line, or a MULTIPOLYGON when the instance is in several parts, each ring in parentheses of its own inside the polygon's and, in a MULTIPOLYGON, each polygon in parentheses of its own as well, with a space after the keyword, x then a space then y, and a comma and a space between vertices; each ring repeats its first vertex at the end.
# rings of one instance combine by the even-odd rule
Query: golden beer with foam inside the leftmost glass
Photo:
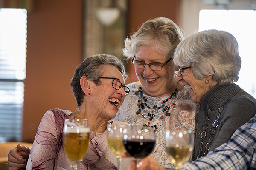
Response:
POLYGON ((87 153, 90 142, 89 128, 75 130, 65 130, 63 132, 63 145, 65 153, 71 162, 82 161, 87 153))

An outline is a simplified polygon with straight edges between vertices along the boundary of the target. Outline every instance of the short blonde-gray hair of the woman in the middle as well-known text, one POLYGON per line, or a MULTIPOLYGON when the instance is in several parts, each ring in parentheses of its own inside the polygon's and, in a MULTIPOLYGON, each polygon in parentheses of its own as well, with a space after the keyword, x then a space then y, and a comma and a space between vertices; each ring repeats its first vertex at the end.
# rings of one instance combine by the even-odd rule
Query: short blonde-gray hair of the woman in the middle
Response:
POLYGON ((136 33, 125 39, 123 55, 128 60, 134 57, 139 47, 154 45, 158 54, 171 58, 182 39, 182 29, 172 20, 164 17, 155 18, 143 23, 136 33))

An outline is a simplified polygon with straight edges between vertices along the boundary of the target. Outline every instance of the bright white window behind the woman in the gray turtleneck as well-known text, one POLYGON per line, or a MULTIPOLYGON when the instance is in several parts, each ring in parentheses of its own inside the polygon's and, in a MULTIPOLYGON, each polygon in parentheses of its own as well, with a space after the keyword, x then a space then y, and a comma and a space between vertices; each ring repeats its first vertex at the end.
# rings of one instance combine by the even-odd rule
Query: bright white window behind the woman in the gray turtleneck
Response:
POLYGON ((236 84, 256 98, 256 11, 201 10, 199 31, 206 29, 228 31, 236 37, 242 59, 236 84))

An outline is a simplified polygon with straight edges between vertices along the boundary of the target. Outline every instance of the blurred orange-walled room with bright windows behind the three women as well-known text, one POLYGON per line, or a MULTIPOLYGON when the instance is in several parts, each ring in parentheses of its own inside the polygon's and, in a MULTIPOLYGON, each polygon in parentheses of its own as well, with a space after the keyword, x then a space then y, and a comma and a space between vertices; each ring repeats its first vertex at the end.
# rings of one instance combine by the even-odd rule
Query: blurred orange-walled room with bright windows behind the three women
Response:
MULTIPOLYGON (((124 39, 155 17, 175 21, 185 36, 230 31, 243 47, 238 84, 254 95, 255 9, 255 0, 0 0, 0 141, 32 143, 49 109, 76 111, 76 66, 97 53, 122 59, 124 39)), ((124 65, 126 84, 137 81, 131 62, 124 65)))

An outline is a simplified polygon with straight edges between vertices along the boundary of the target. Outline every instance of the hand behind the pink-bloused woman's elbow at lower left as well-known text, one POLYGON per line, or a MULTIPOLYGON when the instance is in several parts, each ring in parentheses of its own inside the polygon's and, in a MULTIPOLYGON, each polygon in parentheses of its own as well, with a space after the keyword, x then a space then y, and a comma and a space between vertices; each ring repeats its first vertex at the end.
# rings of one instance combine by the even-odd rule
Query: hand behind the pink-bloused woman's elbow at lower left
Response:
POLYGON ((26 168, 30 150, 30 147, 21 144, 12 148, 8 154, 8 169, 19 170, 20 168, 26 168))

